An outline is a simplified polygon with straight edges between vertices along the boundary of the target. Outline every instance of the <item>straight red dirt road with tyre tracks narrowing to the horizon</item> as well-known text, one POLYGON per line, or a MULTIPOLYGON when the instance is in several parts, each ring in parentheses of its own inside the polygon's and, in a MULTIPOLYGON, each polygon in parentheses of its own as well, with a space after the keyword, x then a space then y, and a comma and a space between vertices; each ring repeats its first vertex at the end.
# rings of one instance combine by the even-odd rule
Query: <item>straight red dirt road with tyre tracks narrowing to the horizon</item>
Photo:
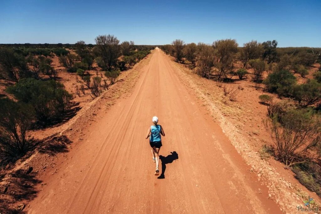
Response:
POLYGON ((28 212, 281 213, 180 82, 169 57, 159 49, 150 57, 133 93, 83 130, 83 141, 44 179, 47 185, 28 212), (166 134, 160 149, 163 179, 154 175, 144 138, 154 115, 166 134))

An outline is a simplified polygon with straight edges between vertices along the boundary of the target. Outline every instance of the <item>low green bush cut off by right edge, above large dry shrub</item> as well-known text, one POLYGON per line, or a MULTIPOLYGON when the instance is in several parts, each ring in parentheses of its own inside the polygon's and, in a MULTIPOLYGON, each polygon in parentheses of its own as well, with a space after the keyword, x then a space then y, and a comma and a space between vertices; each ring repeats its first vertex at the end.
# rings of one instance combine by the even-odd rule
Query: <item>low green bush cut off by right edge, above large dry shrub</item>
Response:
POLYGON ((294 85, 291 94, 300 106, 313 105, 321 101, 321 83, 308 79, 305 84, 294 85))

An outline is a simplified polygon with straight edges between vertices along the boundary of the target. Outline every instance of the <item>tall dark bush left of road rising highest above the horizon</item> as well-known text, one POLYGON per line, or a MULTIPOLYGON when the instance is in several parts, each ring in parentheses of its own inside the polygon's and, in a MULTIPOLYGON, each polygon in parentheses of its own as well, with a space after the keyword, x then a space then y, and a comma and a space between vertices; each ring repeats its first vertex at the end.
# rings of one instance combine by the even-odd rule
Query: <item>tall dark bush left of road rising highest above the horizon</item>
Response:
POLYGON ((111 71, 116 66, 120 55, 119 40, 114 35, 99 35, 95 38, 96 55, 100 57, 98 64, 103 70, 111 71))

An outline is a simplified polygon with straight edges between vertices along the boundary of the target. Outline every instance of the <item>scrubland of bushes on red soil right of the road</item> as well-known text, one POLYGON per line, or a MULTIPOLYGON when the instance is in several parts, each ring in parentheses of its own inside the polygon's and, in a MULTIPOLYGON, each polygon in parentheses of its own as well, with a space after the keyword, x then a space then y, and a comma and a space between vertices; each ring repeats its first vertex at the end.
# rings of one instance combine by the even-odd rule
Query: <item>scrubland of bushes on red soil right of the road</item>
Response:
POLYGON ((273 145, 265 145, 260 156, 273 155, 321 196, 321 48, 277 45, 276 40, 252 40, 243 47, 232 39, 211 45, 175 40, 160 48, 192 72, 213 80, 230 101, 237 100, 240 90, 229 86, 231 82, 250 81, 262 90, 259 101, 267 106, 265 127, 273 145))

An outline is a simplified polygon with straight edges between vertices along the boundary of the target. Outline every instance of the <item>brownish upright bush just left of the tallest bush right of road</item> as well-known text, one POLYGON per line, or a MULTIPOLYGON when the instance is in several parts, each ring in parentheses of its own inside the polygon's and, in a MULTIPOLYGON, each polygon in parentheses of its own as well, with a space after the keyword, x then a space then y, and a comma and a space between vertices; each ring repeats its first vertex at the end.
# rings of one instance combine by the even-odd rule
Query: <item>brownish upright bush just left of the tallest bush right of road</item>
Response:
POLYGON ((214 50, 210 46, 204 46, 200 52, 200 58, 197 62, 196 73, 199 76, 209 78, 213 73, 214 66, 214 50))

